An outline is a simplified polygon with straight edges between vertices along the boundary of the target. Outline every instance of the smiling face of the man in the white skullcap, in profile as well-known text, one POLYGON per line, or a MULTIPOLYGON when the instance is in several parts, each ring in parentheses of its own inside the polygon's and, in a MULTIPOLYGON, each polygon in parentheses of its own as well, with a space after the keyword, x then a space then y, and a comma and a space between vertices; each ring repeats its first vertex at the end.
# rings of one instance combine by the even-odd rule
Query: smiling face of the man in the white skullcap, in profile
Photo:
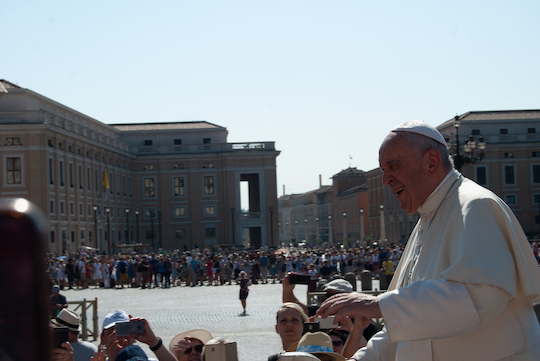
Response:
POLYGON ((427 154, 421 155, 411 143, 391 133, 379 150, 383 184, 396 196, 407 214, 414 214, 429 197, 426 187, 427 154))

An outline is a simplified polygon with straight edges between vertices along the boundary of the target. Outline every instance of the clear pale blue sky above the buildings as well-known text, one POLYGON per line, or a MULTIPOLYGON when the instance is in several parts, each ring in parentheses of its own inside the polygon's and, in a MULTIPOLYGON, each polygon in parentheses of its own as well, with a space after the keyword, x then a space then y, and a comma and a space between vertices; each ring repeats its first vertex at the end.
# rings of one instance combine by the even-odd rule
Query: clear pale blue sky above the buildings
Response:
POLYGON ((537 0, 0 0, 0 14, 0 78, 104 123, 275 141, 279 196, 377 167, 403 121, 540 108, 537 0))

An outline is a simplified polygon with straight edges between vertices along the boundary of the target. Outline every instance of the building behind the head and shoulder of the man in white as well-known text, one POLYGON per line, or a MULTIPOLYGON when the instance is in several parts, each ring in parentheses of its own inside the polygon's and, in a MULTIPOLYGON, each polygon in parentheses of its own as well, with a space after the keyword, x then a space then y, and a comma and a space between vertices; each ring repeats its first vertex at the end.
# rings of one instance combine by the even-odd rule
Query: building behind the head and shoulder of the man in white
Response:
POLYGON ((463 165, 462 174, 504 200, 529 237, 540 233, 540 110, 471 111, 439 125, 451 154, 479 163, 463 165), (456 138, 459 136, 459 138, 456 138), (459 141, 456 141, 459 139, 459 141), (473 143, 471 143, 473 142, 473 143), (485 143, 482 151, 478 145, 485 143), (470 151, 464 151, 465 145, 470 151))

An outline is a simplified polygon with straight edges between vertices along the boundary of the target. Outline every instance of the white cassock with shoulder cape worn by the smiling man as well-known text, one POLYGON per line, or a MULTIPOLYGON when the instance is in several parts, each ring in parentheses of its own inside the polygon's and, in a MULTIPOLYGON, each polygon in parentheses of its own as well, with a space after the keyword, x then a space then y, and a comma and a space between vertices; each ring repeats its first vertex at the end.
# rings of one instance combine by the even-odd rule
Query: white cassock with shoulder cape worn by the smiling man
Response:
POLYGON ((356 360, 540 360, 540 269, 512 210, 451 170, 420 206, 386 327, 356 360))

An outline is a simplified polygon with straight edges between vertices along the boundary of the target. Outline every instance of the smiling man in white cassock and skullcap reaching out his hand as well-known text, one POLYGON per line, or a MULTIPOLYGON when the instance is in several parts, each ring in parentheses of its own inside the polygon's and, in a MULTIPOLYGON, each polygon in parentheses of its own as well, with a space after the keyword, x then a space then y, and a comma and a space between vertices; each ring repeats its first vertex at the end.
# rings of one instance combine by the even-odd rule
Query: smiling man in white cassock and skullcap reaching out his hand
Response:
POLYGON ((538 360, 540 270, 512 210, 453 169, 443 136, 411 121, 379 150, 383 183, 420 219, 386 292, 334 296, 318 314, 384 317, 355 360, 538 360))

